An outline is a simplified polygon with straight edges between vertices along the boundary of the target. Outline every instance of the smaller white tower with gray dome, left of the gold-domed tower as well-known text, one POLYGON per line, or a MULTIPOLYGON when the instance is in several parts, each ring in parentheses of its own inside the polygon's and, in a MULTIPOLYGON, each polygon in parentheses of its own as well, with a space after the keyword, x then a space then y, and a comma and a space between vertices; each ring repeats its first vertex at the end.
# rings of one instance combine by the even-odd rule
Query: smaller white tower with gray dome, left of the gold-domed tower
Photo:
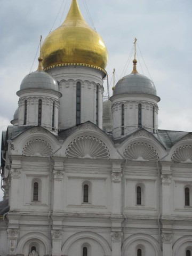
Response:
POLYGON ((42 68, 39 58, 37 71, 23 78, 19 96, 19 126, 43 126, 53 133, 58 132, 59 92, 58 83, 42 68))

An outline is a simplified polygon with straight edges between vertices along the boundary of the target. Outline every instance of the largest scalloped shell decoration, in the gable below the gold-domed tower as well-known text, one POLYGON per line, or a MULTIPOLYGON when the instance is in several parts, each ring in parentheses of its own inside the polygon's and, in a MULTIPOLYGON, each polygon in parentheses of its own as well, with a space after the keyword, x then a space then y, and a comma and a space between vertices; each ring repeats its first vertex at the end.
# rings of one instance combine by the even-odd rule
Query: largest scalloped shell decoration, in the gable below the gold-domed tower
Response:
POLYGON ((72 141, 66 150, 69 158, 109 159, 110 154, 106 145, 92 136, 83 136, 72 141))

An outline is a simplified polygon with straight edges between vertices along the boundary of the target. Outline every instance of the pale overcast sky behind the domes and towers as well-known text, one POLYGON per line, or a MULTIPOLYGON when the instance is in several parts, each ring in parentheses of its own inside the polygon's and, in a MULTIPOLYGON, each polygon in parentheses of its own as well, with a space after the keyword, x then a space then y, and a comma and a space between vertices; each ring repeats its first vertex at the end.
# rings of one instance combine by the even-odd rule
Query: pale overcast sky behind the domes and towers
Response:
MULTIPOLYGON (((0 0, 0 3, 1 132, 10 125, 18 107, 15 93, 31 69, 40 35, 44 39, 53 25, 53 30, 60 26, 71 0, 0 0)), ((94 27, 106 43, 109 82, 113 68, 116 82, 121 78, 137 37, 142 53, 137 50, 138 71, 151 76, 161 98, 158 128, 192 131, 191 0, 78 0, 78 3, 91 26, 86 3, 94 27)), ((125 74, 132 71, 132 59, 133 56, 125 74)), ((37 59, 32 71, 36 69, 37 59)))

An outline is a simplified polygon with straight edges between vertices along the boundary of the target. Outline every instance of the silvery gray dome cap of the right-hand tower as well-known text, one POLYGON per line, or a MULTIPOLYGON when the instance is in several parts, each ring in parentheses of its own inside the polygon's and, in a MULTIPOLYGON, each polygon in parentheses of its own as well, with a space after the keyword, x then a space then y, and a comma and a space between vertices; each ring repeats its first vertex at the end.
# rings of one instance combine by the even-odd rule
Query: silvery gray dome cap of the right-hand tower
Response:
POLYGON ((147 76, 138 73, 124 76, 117 82, 113 95, 121 93, 147 93, 157 95, 154 83, 147 76))

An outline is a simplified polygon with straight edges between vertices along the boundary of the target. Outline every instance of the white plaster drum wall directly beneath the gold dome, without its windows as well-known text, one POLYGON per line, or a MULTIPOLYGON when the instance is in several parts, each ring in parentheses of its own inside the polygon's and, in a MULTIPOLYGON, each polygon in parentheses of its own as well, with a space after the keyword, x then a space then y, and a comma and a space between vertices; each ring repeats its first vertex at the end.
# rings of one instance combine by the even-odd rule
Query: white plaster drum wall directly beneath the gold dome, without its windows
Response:
POLYGON ((60 129, 76 125, 76 84, 81 83, 81 123, 95 122, 95 86, 99 85, 99 127, 102 129, 102 71, 82 66, 55 67, 47 70, 59 82, 62 93, 59 108, 60 129))

